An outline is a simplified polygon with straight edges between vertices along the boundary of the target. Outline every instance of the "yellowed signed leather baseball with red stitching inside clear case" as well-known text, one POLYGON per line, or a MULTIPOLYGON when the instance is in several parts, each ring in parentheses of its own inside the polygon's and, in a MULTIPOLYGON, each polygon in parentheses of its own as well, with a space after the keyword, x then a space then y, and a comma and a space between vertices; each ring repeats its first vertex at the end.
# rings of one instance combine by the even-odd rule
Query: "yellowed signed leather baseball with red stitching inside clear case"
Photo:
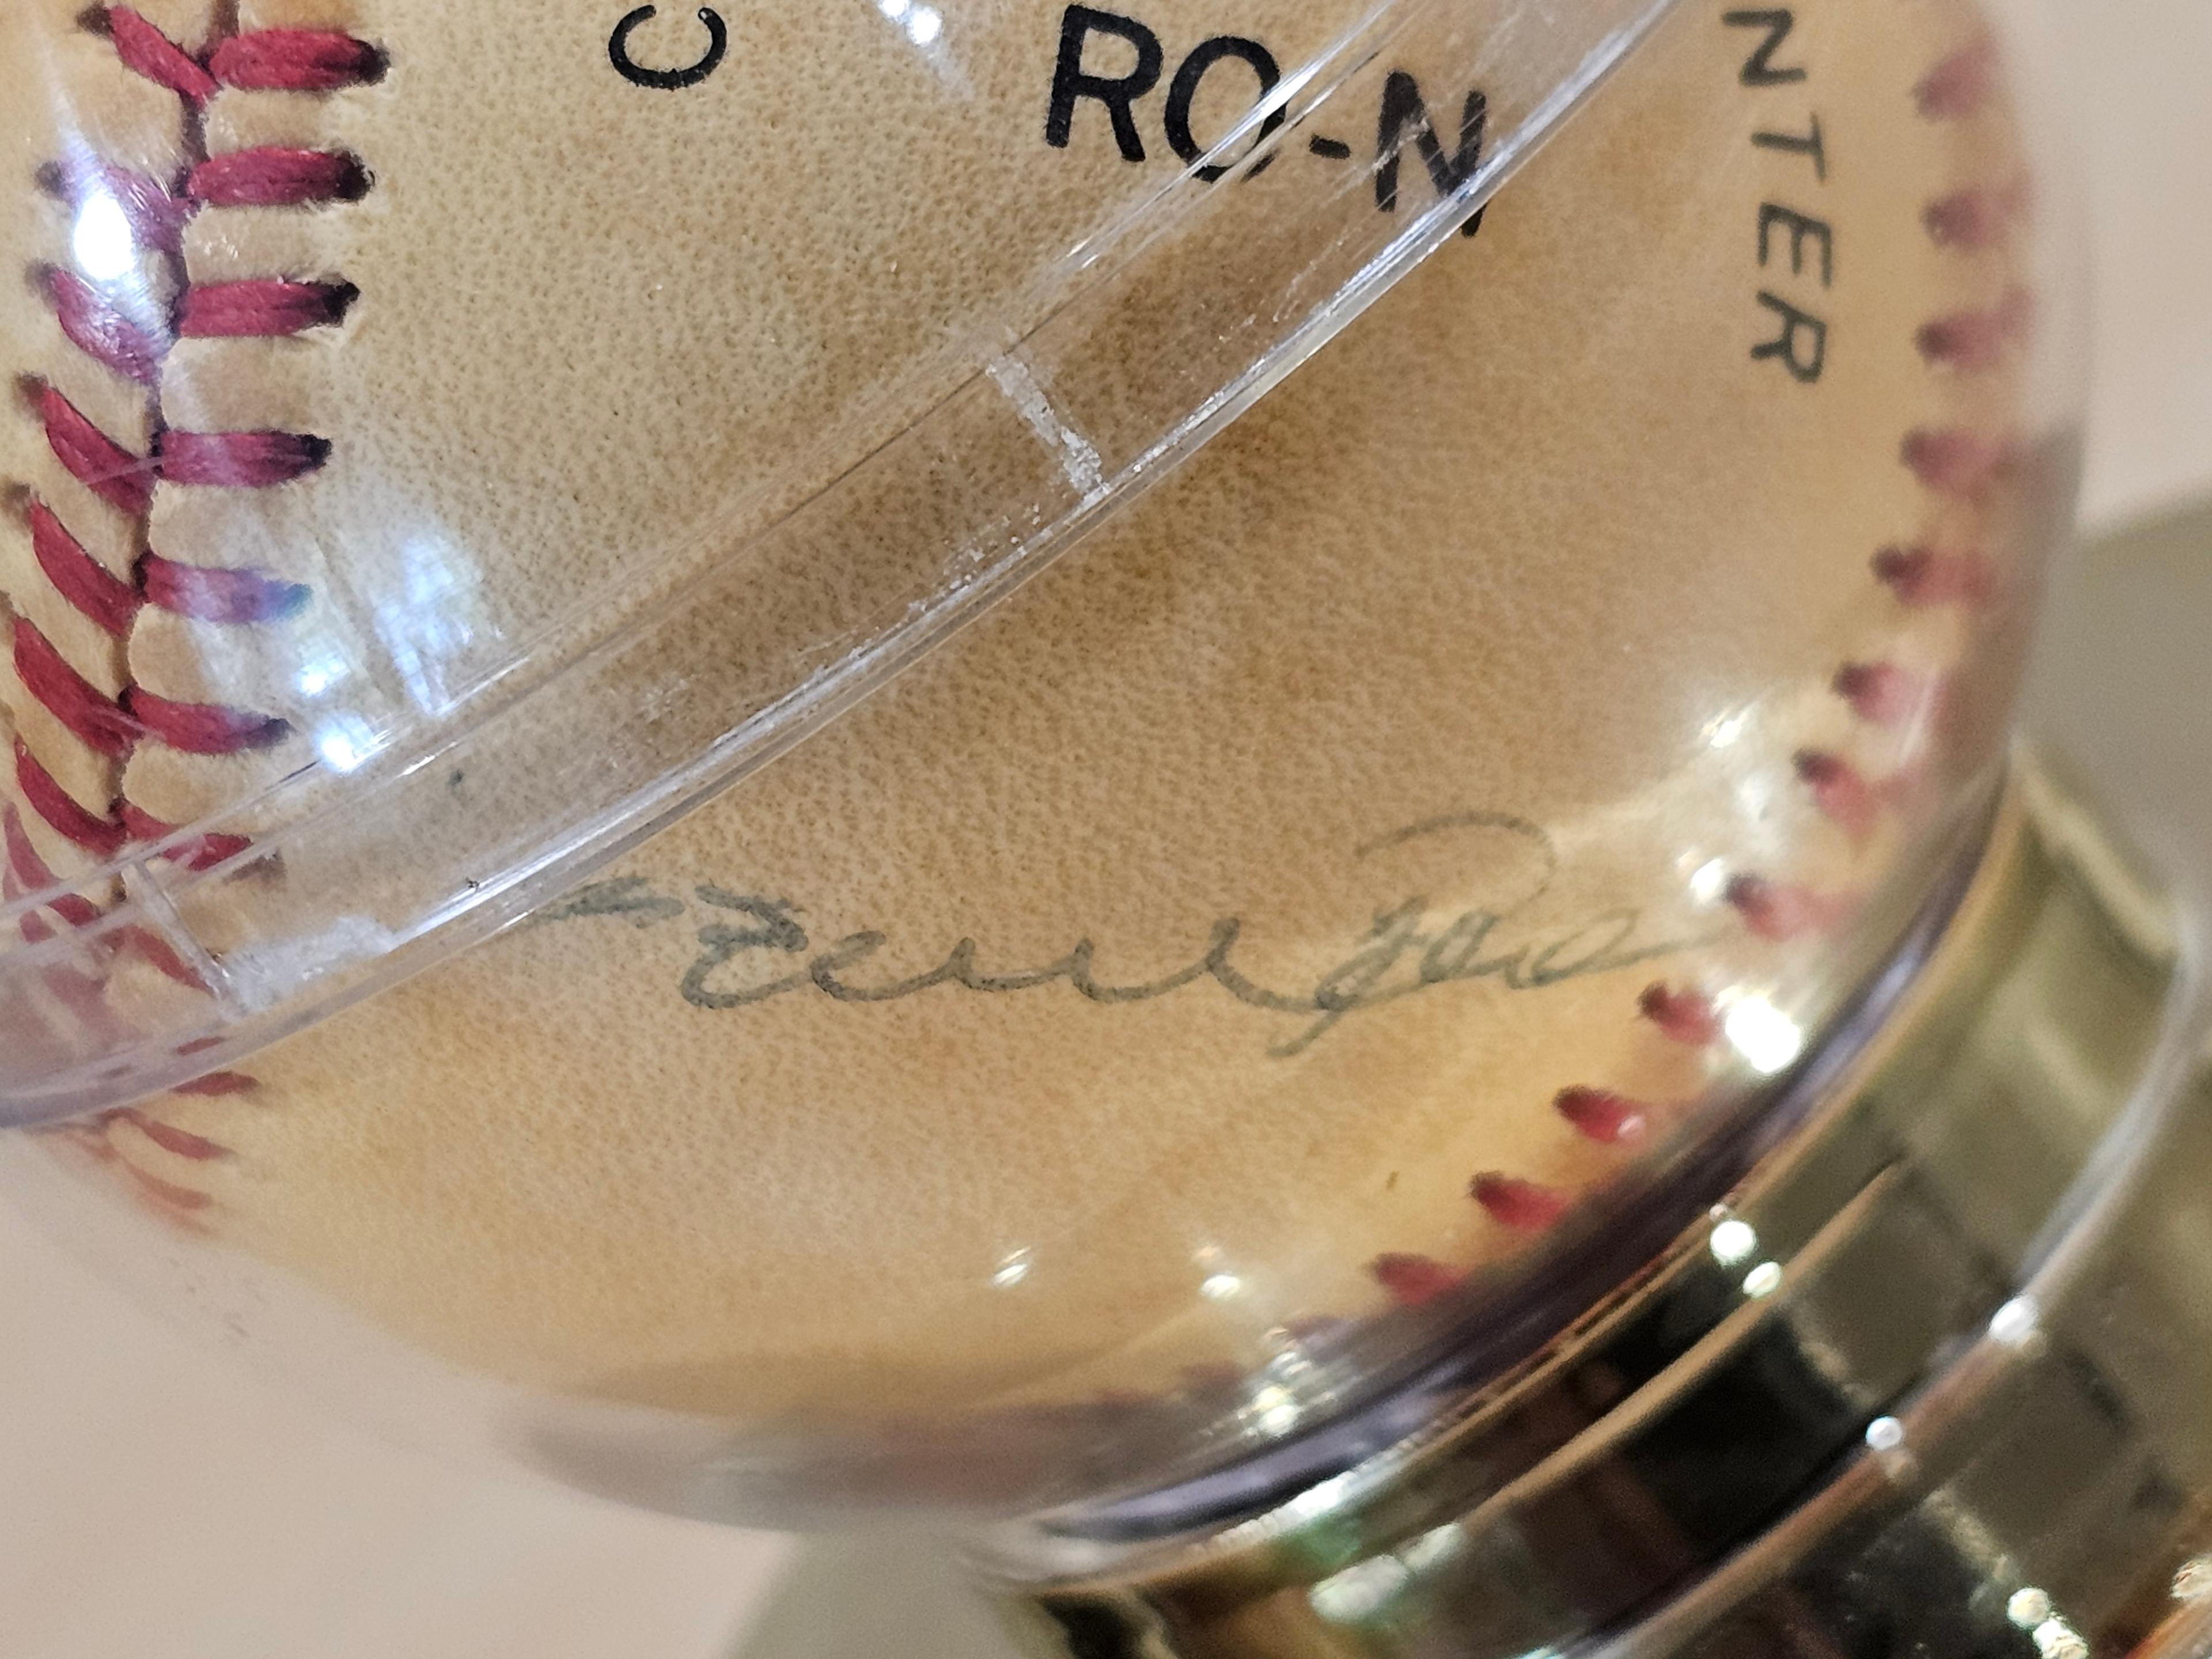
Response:
MULTIPOLYGON (((24 925, 343 790, 332 661, 429 708, 639 562, 743 557, 1352 18, 15 0, 24 925)), ((1455 73, 1267 135, 1261 184, 1436 201, 1484 142, 1455 73)), ((1785 1075, 1933 889, 2039 560, 2033 210, 1971 0, 1683 0, 1473 234, 878 695, 11 1170, 526 1396, 737 1431, 1411 1340, 1785 1075)))

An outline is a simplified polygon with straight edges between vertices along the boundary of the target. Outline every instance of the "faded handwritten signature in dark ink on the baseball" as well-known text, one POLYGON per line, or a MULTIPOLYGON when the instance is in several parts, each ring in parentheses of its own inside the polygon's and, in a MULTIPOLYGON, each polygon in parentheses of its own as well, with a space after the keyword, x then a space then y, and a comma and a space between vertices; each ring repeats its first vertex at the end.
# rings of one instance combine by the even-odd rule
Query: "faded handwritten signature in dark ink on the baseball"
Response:
MULTIPOLYGON (((1137 984, 1102 982, 1097 945, 1088 936, 1077 938, 1057 960, 1031 969, 984 971, 978 962, 982 947, 973 938, 962 938, 922 973, 869 978, 867 964, 891 942, 889 933, 845 933, 830 947, 816 949, 799 920, 805 914, 799 905, 714 885, 692 889, 708 920, 697 929, 699 956, 684 971, 679 989, 695 1009, 728 1011, 807 991, 834 1002, 902 1002, 938 987, 975 995, 1018 995, 1048 984, 1066 984, 1086 1002, 1126 1004, 1157 1002, 1210 982, 1250 1009, 1298 1020, 1290 1037, 1267 1048, 1272 1057, 1290 1060, 1356 1013, 1371 1013, 1444 984, 1495 980, 1509 991, 1542 991, 1566 980, 1674 956, 1714 938, 1641 940, 1644 914, 1635 907, 1608 909, 1515 938, 1515 918, 1551 889, 1557 854, 1540 825, 1506 814, 1451 812, 1425 818, 1354 849, 1354 858, 1369 860, 1471 830, 1502 832, 1535 854, 1535 876, 1524 891, 1455 911, 1438 911, 1420 894, 1378 907, 1349 953, 1321 973, 1310 991, 1270 989, 1237 964, 1245 936, 1241 916, 1212 922, 1206 945, 1183 967, 1137 984), (783 964, 790 969, 761 978, 783 964)), ((644 876, 624 876, 580 887, 533 920, 624 918, 633 927, 659 927, 690 914, 686 900, 655 891, 644 876)))

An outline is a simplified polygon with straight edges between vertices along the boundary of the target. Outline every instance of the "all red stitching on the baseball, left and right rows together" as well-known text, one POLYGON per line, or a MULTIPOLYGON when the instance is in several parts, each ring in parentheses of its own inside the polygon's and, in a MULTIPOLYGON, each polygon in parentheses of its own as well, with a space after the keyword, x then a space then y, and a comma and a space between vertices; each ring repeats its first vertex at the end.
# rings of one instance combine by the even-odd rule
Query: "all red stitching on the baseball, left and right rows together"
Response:
MULTIPOLYGON (((82 210, 93 192, 117 204, 137 246, 170 265, 177 299, 166 314, 148 319, 142 314, 144 307, 119 303, 77 272, 33 272, 49 294, 64 336, 108 372, 146 389, 155 431, 150 453, 137 456, 100 431, 55 387, 29 387, 55 460, 95 495, 137 520, 142 546, 126 582, 100 564, 53 509, 20 491, 33 553, 53 591, 126 646, 144 606, 217 626, 274 622, 301 608, 310 597, 307 591, 261 571, 166 560, 146 540, 155 491, 164 482, 276 489, 319 471, 330 460, 332 447, 310 434, 166 429, 159 407, 161 372, 177 341, 283 338, 336 327, 361 296, 343 281, 250 279, 192 288, 184 237, 192 217, 208 206, 316 208, 356 201, 374 181, 358 157, 341 150, 252 148, 210 155, 201 117, 223 88, 332 93, 380 80, 387 62, 374 44, 330 31, 226 33, 201 53, 190 53, 126 7, 86 13, 84 24, 108 35, 117 60, 131 73, 184 102, 190 164, 175 184, 113 166, 75 170, 53 166, 42 179, 73 210, 82 210)), ((1920 115, 1931 122, 1978 115, 1995 91, 1995 46, 1989 40, 1949 55, 1916 91, 1920 115)), ((2002 190, 1969 186, 1929 201, 1922 226, 1938 248, 1978 254, 2000 246, 2024 210, 2020 186, 2002 190)), ((1978 374, 2006 361, 2031 327, 2033 301, 2024 290, 2013 290, 1989 310, 1929 319, 1916 330, 1913 343, 1931 369, 1978 374)), ((1900 460, 1920 487, 1933 498, 1955 502, 1984 498, 2013 469, 2015 458, 2008 440, 1955 427, 1913 429, 1900 447, 1900 460)), ((1997 582, 1982 551, 1933 544, 1885 546, 1874 555, 1871 573, 1893 602, 1907 608, 1978 608, 1989 602, 1997 582)), ((139 743, 166 743, 190 754, 234 754, 268 748, 290 734, 281 717, 179 703, 144 686, 126 684, 117 697, 106 697, 20 615, 13 619, 13 657, 24 688, 80 743, 108 759, 117 779, 139 743)), ((1924 721, 1940 708, 1944 695, 1942 681, 1891 661, 1847 661, 1836 670, 1832 690, 1856 719, 1874 728, 1924 721)), ((1905 776, 1869 779, 1858 765, 1827 750, 1801 750, 1792 757, 1792 768, 1814 810, 1854 838, 1871 834, 1878 818, 1909 787, 1905 776)), ((113 858, 133 843, 181 834, 177 825, 159 823, 135 807, 119 790, 104 816, 91 812, 20 739, 15 772, 22 801, 55 834, 100 858, 113 858)), ((7 867, 0 874, 7 896, 55 889, 60 883, 22 832, 13 805, 7 805, 4 827, 7 867)), ((246 843, 237 836, 201 836, 173 856, 206 867, 243 849, 246 843)), ((1851 905, 1849 896, 1820 894, 1759 874, 1730 878, 1723 898, 1752 936, 1776 942, 1827 931, 1851 905)), ((49 909, 71 927, 100 920, 100 909, 80 896, 62 894, 49 909)), ((27 918, 22 927, 27 938, 35 938, 33 929, 51 936, 38 918, 27 918)), ((190 982, 190 969, 181 962, 164 971, 190 982)), ((95 1000, 97 987, 86 982, 71 993, 77 1000, 95 1000)), ((1712 1048, 1725 1040, 1721 1011, 1697 987, 1663 982, 1646 987, 1637 998, 1637 1018, 1677 1044, 1712 1048)), ((254 1082, 239 1073, 215 1073, 177 1093, 234 1095, 252 1086, 254 1082)), ((1575 1133, 1608 1146, 1641 1141, 1657 1121, 1674 1115, 1663 1106, 1593 1086, 1562 1088, 1551 1106, 1575 1133)), ((230 1155, 215 1141, 131 1108, 75 1126, 71 1135, 86 1146, 97 1141, 102 1157, 113 1159, 119 1152, 111 1135, 124 1126, 190 1161, 230 1155)), ((208 1203, 204 1192, 137 1170, 128 1157, 122 1157, 122 1164, 168 1210, 199 1210, 208 1203)), ((1573 1203, 1566 1190, 1502 1170, 1480 1172, 1469 1194, 1493 1221, 1522 1232, 1553 1225, 1573 1203)), ((1416 1254, 1378 1256, 1371 1261, 1371 1274, 1396 1301, 1411 1305, 1460 1283, 1460 1274, 1451 1267, 1416 1254)))

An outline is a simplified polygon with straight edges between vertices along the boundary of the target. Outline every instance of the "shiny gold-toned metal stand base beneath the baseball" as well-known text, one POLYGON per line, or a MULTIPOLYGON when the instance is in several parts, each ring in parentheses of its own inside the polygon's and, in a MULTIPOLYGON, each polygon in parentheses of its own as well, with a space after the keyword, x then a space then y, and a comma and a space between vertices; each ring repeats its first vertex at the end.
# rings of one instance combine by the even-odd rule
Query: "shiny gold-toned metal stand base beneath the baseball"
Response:
POLYGON ((1066 1659, 2212 1652, 2212 1071, 2033 765, 1907 1009, 1668 1259, 1413 1440, 1006 1608, 1066 1659))

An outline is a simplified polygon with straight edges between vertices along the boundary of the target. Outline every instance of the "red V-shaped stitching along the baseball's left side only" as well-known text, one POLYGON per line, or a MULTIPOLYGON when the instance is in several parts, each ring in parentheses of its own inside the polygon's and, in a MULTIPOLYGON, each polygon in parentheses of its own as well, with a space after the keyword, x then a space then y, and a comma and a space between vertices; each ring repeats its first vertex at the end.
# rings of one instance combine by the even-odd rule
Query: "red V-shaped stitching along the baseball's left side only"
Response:
MULTIPOLYGON (((100 429, 69 396, 49 383, 22 387, 31 418, 42 425, 46 447, 84 489, 124 513, 133 524, 137 557, 128 580, 102 564, 69 529, 64 518, 31 487, 11 491, 31 540, 31 553, 53 593, 122 648, 128 664, 133 633, 146 606, 212 626, 257 626, 296 613, 310 597, 296 582, 254 568, 184 564, 153 546, 155 493, 161 484, 197 489, 279 489, 330 460, 330 442, 292 431, 184 431, 170 429, 161 411, 161 376, 179 341, 290 338, 341 325, 358 290, 345 281, 301 281, 285 276, 192 285, 186 263, 186 230, 204 208, 321 208, 358 201, 372 188, 365 164, 343 150, 246 148, 210 153, 206 108, 226 88, 252 93, 321 95, 367 86, 383 77, 378 46, 334 31, 265 29, 241 33, 219 27, 199 51, 186 51, 128 7, 93 9, 80 27, 104 35, 117 62, 133 75, 177 95, 184 106, 184 168, 173 179, 155 179, 100 157, 53 161, 40 173, 40 188, 58 197, 71 215, 106 208, 122 217, 135 257, 159 261, 173 303, 150 296, 137 272, 122 281, 100 281, 58 265, 35 268, 33 283, 46 296, 62 336, 86 358, 119 380, 144 389, 148 400, 148 453, 133 453, 100 429)), ((135 261, 133 261, 135 263, 135 261)), ((270 748, 290 734, 276 714, 186 703, 131 681, 124 670, 117 695, 102 692, 24 615, 11 615, 15 675, 77 743, 104 761, 111 799, 95 810, 75 799, 18 734, 15 785, 51 832, 100 860, 131 845, 170 841, 179 825, 161 823, 122 792, 124 765, 144 743, 161 743, 186 754, 221 757, 270 748)), ((102 909, 82 894, 60 891, 51 869, 27 832, 15 803, 4 805, 4 863, 0 891, 9 900, 53 894, 44 905, 60 922, 88 929, 102 909)), ((204 834, 168 852, 195 869, 206 869, 248 849, 248 841, 204 834)), ((27 942, 55 938, 40 914, 20 922, 27 942)), ((144 929, 124 929, 117 949, 148 960, 164 975, 199 987, 190 964, 144 929)), ((49 989, 80 1018, 113 1024, 104 1006, 104 984, 75 969, 46 975, 49 989)), ((246 1095, 257 1082, 243 1073, 208 1073, 175 1093, 246 1095)), ((115 1146, 119 1128, 135 1128, 153 1146, 195 1164, 230 1157, 230 1150, 139 1108, 104 1113, 62 1135, 102 1161, 117 1161, 155 1208, 190 1217, 212 1203, 208 1192, 166 1181, 133 1164, 115 1146)))

